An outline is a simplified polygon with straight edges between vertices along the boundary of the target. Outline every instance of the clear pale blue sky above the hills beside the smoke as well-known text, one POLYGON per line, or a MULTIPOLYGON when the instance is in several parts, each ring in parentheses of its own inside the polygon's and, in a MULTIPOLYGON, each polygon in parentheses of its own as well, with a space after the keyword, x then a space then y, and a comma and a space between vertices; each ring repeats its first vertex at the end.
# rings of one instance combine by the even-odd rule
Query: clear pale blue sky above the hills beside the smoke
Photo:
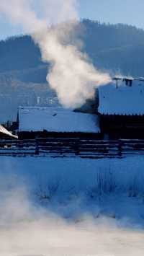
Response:
MULTIPOLYGON (((81 18, 125 23, 144 29, 144 0, 79 0, 79 15, 81 18)), ((20 28, 12 27, 0 17, 0 39, 19 34, 22 34, 20 28)))

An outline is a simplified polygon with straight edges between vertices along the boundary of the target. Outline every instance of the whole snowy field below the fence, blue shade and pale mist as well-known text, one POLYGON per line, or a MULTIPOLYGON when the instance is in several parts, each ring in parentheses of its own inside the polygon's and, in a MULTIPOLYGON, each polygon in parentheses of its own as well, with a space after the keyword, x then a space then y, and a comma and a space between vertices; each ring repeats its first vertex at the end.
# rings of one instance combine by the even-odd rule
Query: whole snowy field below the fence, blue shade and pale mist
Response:
POLYGON ((0 158, 1 256, 144 254, 144 159, 0 158))

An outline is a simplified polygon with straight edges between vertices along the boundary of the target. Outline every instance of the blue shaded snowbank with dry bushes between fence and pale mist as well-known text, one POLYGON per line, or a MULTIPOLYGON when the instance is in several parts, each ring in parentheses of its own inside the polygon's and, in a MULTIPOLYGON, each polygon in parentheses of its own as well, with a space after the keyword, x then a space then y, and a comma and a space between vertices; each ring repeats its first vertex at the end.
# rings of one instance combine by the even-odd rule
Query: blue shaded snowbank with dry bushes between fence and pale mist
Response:
POLYGON ((25 187, 31 200, 62 217, 102 213, 143 224, 143 156, 123 159, 1 156, 0 163, 0 187, 25 187), (68 211, 67 206, 71 206, 68 211))

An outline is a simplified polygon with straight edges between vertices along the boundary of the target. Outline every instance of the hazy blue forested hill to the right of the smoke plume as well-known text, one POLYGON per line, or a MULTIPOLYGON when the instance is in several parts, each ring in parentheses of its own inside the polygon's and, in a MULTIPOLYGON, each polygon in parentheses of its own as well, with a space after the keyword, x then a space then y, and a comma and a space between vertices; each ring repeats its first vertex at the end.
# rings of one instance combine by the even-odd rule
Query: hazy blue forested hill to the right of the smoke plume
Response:
POLYGON ((112 73, 144 76, 144 30, 130 25, 83 21, 84 50, 95 66, 112 73))

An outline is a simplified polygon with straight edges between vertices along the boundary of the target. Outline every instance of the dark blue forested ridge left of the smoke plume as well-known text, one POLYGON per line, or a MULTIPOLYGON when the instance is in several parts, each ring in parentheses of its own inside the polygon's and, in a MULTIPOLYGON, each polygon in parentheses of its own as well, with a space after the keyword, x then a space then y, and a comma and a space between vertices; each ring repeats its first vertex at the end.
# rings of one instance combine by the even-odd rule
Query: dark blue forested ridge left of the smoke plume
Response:
POLYGON ((29 35, 0 42, 0 72, 36 68, 41 63, 40 49, 29 35))

